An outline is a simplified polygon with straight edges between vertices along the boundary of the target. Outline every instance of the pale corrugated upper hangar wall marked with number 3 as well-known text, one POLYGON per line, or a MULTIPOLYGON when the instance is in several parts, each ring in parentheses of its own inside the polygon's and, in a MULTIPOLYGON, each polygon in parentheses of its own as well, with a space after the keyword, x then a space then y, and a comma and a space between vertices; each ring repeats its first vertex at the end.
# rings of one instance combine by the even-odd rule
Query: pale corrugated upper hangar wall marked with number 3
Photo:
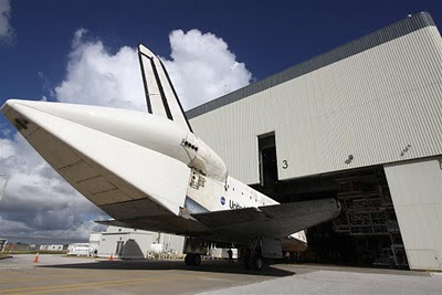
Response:
POLYGON ((193 130, 246 183, 259 182, 257 135, 273 130, 280 179, 441 155, 442 39, 432 24, 415 30, 413 18, 376 32, 402 30, 379 45, 218 108, 190 110, 193 130))

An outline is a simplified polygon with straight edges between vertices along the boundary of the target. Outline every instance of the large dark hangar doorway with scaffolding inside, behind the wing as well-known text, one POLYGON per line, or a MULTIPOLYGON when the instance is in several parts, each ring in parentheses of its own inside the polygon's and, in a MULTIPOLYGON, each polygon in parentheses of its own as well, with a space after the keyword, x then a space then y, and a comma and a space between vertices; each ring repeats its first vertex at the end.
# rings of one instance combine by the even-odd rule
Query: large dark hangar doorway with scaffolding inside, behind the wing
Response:
POLYGON ((383 167, 280 180, 273 188, 252 187, 281 203, 326 198, 340 202, 338 218, 307 230, 308 250, 297 254, 299 262, 408 267, 383 167))

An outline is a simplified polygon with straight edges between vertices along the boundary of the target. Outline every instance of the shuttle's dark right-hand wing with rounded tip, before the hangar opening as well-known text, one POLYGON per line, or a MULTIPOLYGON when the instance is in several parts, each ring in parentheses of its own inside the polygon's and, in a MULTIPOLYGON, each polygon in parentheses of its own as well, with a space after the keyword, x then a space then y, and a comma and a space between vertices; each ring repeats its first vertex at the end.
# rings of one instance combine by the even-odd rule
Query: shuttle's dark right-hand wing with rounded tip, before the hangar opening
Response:
POLYGON ((282 239, 332 220, 339 213, 339 202, 335 199, 323 199, 199 213, 192 217, 220 234, 282 239))

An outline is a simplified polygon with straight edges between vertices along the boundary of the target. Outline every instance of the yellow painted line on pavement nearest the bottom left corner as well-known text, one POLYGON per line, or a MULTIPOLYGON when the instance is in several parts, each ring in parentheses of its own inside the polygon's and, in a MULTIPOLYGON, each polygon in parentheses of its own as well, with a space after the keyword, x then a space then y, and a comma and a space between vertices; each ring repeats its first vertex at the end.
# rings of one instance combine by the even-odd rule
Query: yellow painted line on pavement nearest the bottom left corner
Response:
POLYGON ((41 287, 9 288, 9 289, 1 289, 0 293, 64 292, 64 291, 71 291, 71 289, 84 289, 84 288, 94 288, 94 287, 103 287, 103 286, 110 286, 110 285, 127 285, 127 284, 134 284, 134 283, 159 282, 159 281, 169 281, 169 280, 170 280, 170 276, 166 276, 161 280, 133 278, 133 280, 118 280, 118 281, 103 281, 103 282, 93 282, 93 283, 52 285, 52 286, 41 286, 41 287))

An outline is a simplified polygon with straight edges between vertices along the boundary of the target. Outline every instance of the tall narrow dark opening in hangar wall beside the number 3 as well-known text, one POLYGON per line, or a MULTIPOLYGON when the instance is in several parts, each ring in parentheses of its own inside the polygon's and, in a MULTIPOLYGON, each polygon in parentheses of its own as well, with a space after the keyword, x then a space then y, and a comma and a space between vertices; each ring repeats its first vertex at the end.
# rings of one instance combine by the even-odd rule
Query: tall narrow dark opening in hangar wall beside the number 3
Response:
POLYGON ((260 185, 272 189, 277 182, 277 160, 275 133, 257 137, 260 159, 260 185))

